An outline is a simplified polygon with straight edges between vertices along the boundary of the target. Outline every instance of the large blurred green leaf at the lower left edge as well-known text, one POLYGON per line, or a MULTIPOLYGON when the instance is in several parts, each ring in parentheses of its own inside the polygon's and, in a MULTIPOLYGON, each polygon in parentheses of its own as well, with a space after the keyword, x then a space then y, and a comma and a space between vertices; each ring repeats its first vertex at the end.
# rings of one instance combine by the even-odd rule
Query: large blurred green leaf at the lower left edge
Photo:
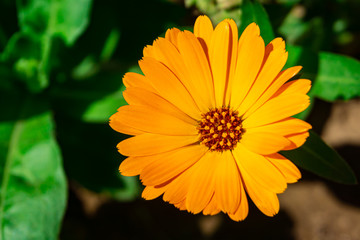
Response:
POLYGON ((66 179, 47 105, 0 96, 0 239, 57 239, 66 179))

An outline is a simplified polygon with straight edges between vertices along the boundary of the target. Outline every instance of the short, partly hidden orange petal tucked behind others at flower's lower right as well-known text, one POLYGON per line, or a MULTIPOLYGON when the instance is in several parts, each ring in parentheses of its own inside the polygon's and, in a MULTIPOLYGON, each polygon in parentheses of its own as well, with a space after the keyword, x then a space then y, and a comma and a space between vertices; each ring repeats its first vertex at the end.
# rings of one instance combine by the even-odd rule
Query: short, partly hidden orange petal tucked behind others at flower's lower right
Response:
POLYGON ((275 153, 266 156, 266 159, 268 159, 277 169, 279 169, 279 171, 286 179, 286 182, 294 183, 301 178, 299 169, 284 156, 275 153))

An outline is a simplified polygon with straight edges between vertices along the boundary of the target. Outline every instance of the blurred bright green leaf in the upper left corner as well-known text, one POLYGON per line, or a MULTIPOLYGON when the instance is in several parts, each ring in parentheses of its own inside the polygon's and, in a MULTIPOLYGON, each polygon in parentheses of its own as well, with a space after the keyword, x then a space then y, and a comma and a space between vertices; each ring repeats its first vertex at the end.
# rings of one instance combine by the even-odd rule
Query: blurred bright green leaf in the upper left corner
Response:
POLYGON ((92 0, 16 1, 20 31, 15 33, 0 55, 14 64, 14 71, 31 92, 49 85, 54 66, 51 58, 58 49, 54 38, 72 46, 88 25, 92 0))

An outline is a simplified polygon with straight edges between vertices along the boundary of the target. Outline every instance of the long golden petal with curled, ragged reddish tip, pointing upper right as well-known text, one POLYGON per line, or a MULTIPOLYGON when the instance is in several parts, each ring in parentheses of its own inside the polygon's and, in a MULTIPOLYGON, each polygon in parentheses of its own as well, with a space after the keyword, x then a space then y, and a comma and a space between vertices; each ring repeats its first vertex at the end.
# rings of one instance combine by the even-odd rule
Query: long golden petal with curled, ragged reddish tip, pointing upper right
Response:
POLYGON ((239 115, 243 115, 253 104, 255 104, 256 100, 273 82, 286 63, 288 53, 285 52, 285 44, 274 44, 273 41, 266 46, 264 62, 259 75, 249 90, 248 95, 237 109, 239 115), (268 56, 266 56, 266 52, 269 52, 268 56))

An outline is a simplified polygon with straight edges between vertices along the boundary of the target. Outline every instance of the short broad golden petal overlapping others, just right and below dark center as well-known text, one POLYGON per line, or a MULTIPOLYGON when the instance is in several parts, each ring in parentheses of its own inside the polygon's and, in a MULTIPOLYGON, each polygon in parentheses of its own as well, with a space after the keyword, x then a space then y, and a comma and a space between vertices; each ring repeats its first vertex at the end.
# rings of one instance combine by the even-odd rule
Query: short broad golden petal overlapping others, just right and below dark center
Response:
POLYGON ((276 153, 291 144, 278 133, 260 131, 246 132, 240 142, 250 151, 261 155, 276 153))

